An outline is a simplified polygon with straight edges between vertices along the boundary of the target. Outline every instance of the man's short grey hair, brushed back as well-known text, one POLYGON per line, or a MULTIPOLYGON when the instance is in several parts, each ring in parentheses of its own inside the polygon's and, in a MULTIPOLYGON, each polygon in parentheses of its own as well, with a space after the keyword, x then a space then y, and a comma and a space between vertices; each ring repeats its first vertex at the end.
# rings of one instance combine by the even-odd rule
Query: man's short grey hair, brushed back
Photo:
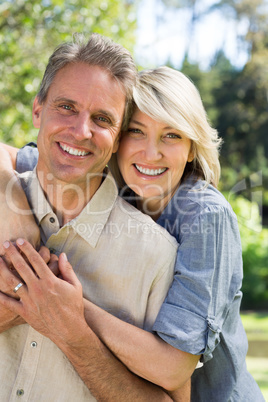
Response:
POLYGON ((49 58, 39 92, 38 102, 45 102, 55 75, 67 64, 86 63, 107 70, 118 81, 126 95, 122 129, 128 124, 132 106, 132 89, 137 78, 137 68, 128 50, 111 39, 92 34, 86 40, 83 34, 74 34, 73 41, 59 45, 49 58))

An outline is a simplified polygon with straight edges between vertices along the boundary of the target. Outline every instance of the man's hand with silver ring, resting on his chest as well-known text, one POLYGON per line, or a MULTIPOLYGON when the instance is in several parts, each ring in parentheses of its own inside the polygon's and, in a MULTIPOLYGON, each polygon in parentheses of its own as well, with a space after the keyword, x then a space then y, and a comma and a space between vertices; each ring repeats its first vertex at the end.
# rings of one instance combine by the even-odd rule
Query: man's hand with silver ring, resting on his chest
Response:
MULTIPOLYGON (((82 286, 71 265, 66 264, 65 254, 59 257, 60 279, 27 241, 18 239, 16 245, 18 249, 12 243, 5 242, 5 256, 13 264, 24 285, 16 293, 19 300, 0 294, 0 303, 54 343, 60 345, 61 342, 71 342, 79 336, 79 328, 81 325, 86 326, 86 322, 82 286)), ((1 270, 7 275, 8 268, 3 264, 2 260, 1 270)), ((3 280, 9 290, 14 289, 19 282, 14 276, 3 280)))

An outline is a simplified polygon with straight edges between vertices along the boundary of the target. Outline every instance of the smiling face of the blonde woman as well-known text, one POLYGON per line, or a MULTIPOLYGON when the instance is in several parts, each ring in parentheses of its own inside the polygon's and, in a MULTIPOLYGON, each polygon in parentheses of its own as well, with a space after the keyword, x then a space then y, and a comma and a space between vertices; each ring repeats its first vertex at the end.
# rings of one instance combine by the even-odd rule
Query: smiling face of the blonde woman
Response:
POLYGON ((159 213, 178 188, 186 163, 193 159, 191 140, 138 109, 121 138, 117 157, 126 184, 142 197, 143 206, 146 202, 148 212, 159 213))

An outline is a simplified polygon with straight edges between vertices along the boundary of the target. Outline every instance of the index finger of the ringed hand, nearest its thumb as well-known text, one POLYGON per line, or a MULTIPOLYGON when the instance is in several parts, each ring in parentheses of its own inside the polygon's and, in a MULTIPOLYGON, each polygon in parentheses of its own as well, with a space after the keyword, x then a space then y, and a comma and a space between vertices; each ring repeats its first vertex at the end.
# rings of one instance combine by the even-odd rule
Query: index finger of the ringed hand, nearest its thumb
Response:
POLYGON ((40 279, 52 275, 52 272, 48 268, 43 258, 39 255, 39 253, 34 249, 34 247, 28 241, 26 241, 25 239, 18 239, 16 241, 16 245, 19 248, 19 250, 22 251, 23 254, 26 256, 32 268, 34 269, 35 273, 40 279))

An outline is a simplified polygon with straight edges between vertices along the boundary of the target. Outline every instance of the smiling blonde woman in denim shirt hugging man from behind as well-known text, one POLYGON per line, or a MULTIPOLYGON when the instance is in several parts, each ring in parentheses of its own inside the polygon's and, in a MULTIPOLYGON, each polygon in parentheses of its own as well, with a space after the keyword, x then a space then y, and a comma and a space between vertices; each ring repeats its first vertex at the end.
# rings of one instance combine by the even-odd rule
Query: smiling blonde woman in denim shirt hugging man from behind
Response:
MULTIPOLYGON (((133 106, 110 168, 121 195, 176 237, 174 281, 157 335, 90 302, 87 322, 132 371, 166 389, 181 386, 202 356, 193 401, 263 401, 245 364, 241 245, 236 217, 216 189, 217 132, 195 86, 168 67, 140 74, 133 106)), ((26 152, 34 151, 19 151, 19 168, 26 152)))

